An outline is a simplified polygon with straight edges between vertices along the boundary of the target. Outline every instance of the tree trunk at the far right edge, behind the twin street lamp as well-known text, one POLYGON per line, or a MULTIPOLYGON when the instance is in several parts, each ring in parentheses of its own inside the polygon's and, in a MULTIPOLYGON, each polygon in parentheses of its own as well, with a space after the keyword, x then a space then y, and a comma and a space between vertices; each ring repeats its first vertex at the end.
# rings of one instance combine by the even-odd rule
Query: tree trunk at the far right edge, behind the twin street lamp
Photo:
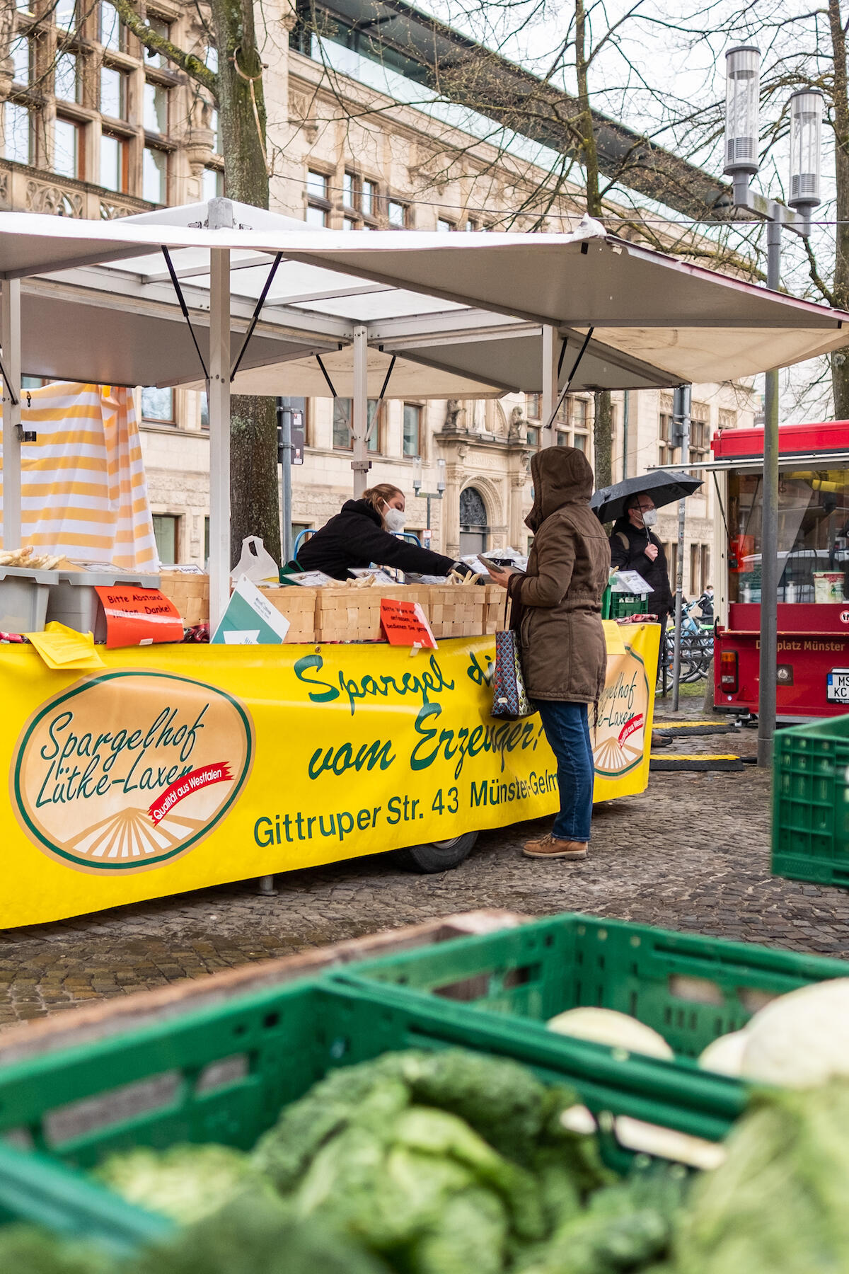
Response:
MULTIPOLYGON (((846 87, 846 36, 840 0, 829 0, 829 25, 834 52, 831 103, 836 164, 836 238, 831 304, 849 308, 849 90, 846 87)), ((849 419, 849 358, 845 352, 831 355, 834 412, 838 420, 849 419)))

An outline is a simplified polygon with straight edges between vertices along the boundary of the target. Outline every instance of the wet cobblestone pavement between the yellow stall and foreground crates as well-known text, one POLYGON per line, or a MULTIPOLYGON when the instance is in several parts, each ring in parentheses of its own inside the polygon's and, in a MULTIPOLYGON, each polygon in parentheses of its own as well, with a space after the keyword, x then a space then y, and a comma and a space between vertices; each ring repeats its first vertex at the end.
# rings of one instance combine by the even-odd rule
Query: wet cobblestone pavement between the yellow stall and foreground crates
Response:
MULTIPOLYGON (((694 719, 687 710, 681 717, 694 719)), ((671 752, 754 755, 754 731, 671 752)), ((521 856, 544 823, 482 833, 456 871, 414 875, 375 855, 0 933, 0 1028, 307 947, 477 907, 587 911, 796 950, 849 957, 849 894, 774 879, 769 775, 656 773, 640 796, 598 806, 582 864, 521 856)))

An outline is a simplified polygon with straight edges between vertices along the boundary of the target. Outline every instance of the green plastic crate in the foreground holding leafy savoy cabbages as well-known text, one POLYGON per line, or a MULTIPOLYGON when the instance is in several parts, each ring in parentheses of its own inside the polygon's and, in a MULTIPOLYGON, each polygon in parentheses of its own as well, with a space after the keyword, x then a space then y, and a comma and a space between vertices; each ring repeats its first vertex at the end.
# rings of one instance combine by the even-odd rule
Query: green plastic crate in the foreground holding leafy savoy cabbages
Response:
MULTIPOLYGON (((709 1140, 726 1135, 747 1099, 742 1084, 720 1075, 328 975, 0 1066, 0 1148, 10 1147, 5 1159, 0 1153, 0 1222, 25 1217, 104 1240, 117 1228, 131 1240, 127 1204, 115 1199, 115 1215, 108 1208, 104 1214, 104 1191, 76 1170, 135 1145, 220 1142, 246 1149, 330 1069, 398 1049, 451 1046, 522 1061, 545 1082, 572 1084, 597 1112, 709 1140), (37 1176, 29 1152, 48 1156, 60 1184, 69 1170, 70 1208, 52 1208, 50 1191, 27 1201, 15 1161, 37 1176)), ((615 1162, 610 1142, 607 1152, 615 1162)), ((139 1214, 139 1233, 148 1220, 139 1214)))

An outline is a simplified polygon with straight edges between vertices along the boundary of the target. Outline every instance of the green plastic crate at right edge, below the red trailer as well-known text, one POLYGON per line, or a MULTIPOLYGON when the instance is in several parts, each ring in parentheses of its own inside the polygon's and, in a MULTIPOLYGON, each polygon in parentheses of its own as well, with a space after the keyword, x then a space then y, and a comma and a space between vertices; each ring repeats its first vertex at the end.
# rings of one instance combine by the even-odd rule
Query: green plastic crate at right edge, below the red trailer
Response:
POLYGON ((773 871, 849 885, 849 716, 775 735, 773 871))

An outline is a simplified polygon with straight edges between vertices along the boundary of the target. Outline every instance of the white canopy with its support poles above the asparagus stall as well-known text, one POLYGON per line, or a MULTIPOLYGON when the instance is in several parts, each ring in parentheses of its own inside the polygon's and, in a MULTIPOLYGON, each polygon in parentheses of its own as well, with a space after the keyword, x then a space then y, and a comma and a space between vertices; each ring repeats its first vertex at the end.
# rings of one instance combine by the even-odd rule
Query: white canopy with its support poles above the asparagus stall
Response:
MULTIPOLYGON (((305 350, 350 347, 355 489, 365 485, 369 466, 369 345, 384 354, 402 353, 405 363, 449 371, 479 385, 486 383, 486 369, 491 375, 496 363, 507 367, 504 352, 513 349, 509 376, 493 377, 495 383, 490 383, 490 391, 503 391, 513 385, 512 377, 518 381, 522 355, 516 343, 531 341, 538 350, 536 366, 522 376, 541 376, 549 408, 582 348, 578 369, 583 375, 572 383, 589 389, 750 376, 849 341, 849 315, 612 240, 596 222, 582 223, 572 234, 351 234, 305 228, 303 222, 228 200, 108 223, 4 213, 1 345, 11 395, 19 397, 22 371, 20 279, 38 276, 27 283, 28 297, 43 299, 52 288, 59 304, 59 290, 67 287, 88 290, 88 299, 108 311, 104 298, 112 293, 112 306, 144 317, 145 306, 173 297, 163 248, 171 254, 177 285, 191 289, 187 312, 209 316, 195 367, 202 359, 209 383, 213 622, 225 604, 229 573, 232 315, 238 316, 237 330, 249 331, 260 301, 260 339, 253 352, 252 341, 243 352, 243 367, 277 364, 283 373, 293 359, 303 361, 305 350), (281 343, 286 348, 275 350, 281 343)), ((97 339, 108 343, 112 330, 106 324, 97 339)), ((73 378, 81 378, 85 350, 94 340, 81 322, 69 325, 62 357, 73 358, 76 349, 80 358, 73 378)), ((112 383, 165 383, 169 378, 173 383, 173 377, 158 375, 164 363, 151 366, 157 343, 148 340, 146 325, 127 322, 120 341, 111 341, 117 355, 111 361, 112 383), (120 367, 131 368, 132 376, 122 376, 120 367)), ((28 345, 27 371, 55 375, 47 347, 47 338, 28 345)), ((191 345, 186 349, 193 353, 191 345)), ((309 375, 313 371, 304 368, 309 375)), ((87 372, 85 378, 97 377, 87 372)), ((286 377, 276 392, 298 394, 297 383, 286 377)), ((526 380, 516 387, 537 386, 526 380)), ((17 423, 14 408, 4 412, 8 543, 19 535, 17 423)))

